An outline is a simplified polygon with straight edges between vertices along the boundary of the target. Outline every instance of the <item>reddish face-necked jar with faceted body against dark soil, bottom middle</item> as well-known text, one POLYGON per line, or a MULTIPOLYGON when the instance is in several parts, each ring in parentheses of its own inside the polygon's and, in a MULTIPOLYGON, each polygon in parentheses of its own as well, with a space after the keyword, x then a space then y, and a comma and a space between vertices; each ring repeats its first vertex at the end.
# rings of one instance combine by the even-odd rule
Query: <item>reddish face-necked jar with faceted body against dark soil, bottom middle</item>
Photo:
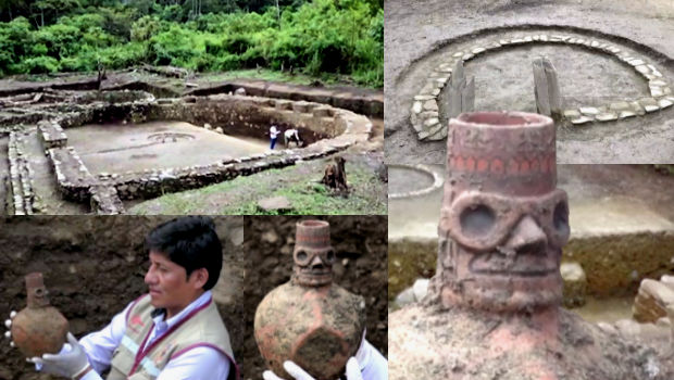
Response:
POLYGON ((336 259, 329 224, 297 224, 289 282, 271 291, 255 312, 255 341, 267 366, 284 379, 292 360, 317 380, 334 380, 354 356, 365 327, 365 302, 333 283, 336 259))

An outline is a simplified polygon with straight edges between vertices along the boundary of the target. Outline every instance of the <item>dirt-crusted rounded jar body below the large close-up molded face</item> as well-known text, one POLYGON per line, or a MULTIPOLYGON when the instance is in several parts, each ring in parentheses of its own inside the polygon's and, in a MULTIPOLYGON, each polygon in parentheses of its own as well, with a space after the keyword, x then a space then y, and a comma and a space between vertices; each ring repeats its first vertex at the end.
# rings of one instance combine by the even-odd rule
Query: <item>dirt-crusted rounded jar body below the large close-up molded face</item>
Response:
POLYGON ((389 379, 665 380, 674 375, 666 351, 607 333, 564 309, 553 327, 535 314, 506 317, 430 301, 409 305, 391 314, 389 379))

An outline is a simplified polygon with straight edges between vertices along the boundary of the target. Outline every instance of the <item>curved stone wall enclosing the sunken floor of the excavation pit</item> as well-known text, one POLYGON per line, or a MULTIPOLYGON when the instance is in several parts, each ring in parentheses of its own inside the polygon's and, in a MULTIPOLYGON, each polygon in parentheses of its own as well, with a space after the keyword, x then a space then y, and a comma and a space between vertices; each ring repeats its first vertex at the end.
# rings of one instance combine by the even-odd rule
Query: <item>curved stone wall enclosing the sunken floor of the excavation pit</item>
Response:
POLYGON ((92 211, 101 214, 122 213, 124 208, 121 200, 151 199, 269 168, 294 165, 300 160, 324 157, 354 143, 366 141, 371 129, 372 124, 366 117, 350 111, 304 101, 241 96, 92 104, 83 112, 39 124, 41 141, 48 150, 59 190, 65 199, 72 201, 91 200, 92 211), (300 136, 308 142, 316 139, 317 141, 302 149, 273 151, 211 165, 101 174, 93 177, 74 148, 66 145, 67 136, 62 128, 110 121, 143 123, 157 119, 186 121, 196 125, 210 124, 212 127, 222 127, 228 134, 245 132, 259 138, 264 138, 270 123, 273 122, 300 129, 300 136))

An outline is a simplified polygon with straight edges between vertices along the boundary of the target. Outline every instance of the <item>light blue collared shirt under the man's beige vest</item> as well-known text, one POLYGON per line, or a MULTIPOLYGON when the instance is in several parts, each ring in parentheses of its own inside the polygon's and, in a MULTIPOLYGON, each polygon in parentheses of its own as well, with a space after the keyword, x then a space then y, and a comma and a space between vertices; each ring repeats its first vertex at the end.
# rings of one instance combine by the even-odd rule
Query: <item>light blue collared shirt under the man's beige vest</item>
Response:
MULTIPOLYGON (((164 315, 153 319, 154 328, 150 332, 150 338, 146 345, 162 337, 172 326, 185 319, 185 317, 197 307, 204 305, 211 300, 211 291, 205 291, 197 300, 192 301, 180 313, 164 320, 164 315)), ((96 371, 89 371, 82 380, 101 380, 100 372, 110 367, 112 353, 122 342, 126 332, 126 313, 133 306, 129 303, 124 311, 112 318, 110 325, 100 331, 92 332, 79 340, 79 344, 85 347, 89 364, 96 371)), ((202 380, 202 379, 226 379, 229 375, 229 359, 223 354, 211 347, 200 346, 189 350, 183 355, 168 362, 166 367, 159 373, 157 380, 202 380)))

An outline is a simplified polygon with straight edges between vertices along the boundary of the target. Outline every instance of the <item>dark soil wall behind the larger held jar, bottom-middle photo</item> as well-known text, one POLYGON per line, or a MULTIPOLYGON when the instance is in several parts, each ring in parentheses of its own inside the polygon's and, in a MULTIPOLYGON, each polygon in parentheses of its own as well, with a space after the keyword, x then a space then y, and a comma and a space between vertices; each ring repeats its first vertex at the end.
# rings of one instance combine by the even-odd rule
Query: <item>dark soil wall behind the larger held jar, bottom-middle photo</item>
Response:
MULTIPOLYGON (((242 379, 261 379, 265 369, 253 338, 254 311, 272 289, 290 279, 295 224, 310 217, 250 216, 245 218, 244 249, 250 265, 245 291, 246 319, 242 379)), ((337 253, 335 282, 365 299, 367 340, 385 356, 388 351, 386 216, 319 217, 330 223, 337 253)))

